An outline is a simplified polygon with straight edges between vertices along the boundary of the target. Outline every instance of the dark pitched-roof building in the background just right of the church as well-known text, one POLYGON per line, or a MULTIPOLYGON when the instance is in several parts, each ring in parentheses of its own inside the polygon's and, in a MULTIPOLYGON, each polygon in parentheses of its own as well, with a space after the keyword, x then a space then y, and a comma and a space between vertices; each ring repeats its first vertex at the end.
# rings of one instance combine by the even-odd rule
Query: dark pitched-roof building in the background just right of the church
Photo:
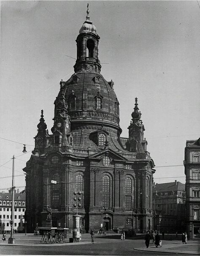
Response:
POLYGON ((153 188, 154 229, 160 232, 186 231, 185 184, 179 181, 153 188))

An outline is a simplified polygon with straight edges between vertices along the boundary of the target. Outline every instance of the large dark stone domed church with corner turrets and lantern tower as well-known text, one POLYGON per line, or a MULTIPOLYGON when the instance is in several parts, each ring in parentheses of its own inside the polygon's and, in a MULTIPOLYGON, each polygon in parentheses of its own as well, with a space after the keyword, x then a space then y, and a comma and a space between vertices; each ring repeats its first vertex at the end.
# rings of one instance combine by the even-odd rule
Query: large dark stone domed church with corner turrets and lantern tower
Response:
POLYGON ((87 9, 76 39, 74 74, 60 82, 54 101, 51 134, 42 110, 35 148, 23 169, 27 231, 45 225, 48 207, 53 227, 72 228, 77 212, 84 232, 153 227, 154 161, 138 99, 129 135, 120 137, 119 101, 114 82, 100 73, 99 40, 87 9), (81 192, 78 202, 74 192, 81 192))

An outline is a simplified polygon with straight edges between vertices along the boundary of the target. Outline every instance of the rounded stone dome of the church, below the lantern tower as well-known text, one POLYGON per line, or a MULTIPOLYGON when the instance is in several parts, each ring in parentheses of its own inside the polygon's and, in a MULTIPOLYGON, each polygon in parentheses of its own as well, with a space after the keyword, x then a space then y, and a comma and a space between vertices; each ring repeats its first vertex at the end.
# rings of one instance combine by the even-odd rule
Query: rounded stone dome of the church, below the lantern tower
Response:
POLYGON ((113 84, 98 72, 74 73, 62 86, 71 121, 107 123, 118 129, 119 102, 113 84))

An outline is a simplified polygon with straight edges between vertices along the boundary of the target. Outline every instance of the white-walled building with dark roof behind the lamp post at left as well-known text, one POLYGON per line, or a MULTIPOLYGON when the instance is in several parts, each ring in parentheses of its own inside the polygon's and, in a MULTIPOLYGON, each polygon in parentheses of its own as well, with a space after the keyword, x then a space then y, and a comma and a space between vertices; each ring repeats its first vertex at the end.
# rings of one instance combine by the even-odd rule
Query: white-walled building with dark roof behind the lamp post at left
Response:
MULTIPOLYGON (((10 233, 11 226, 11 205, 12 193, 0 192, 0 234, 10 233)), ((19 192, 15 190, 14 194, 14 230, 16 232, 23 232, 24 227, 24 214, 26 210, 26 193, 25 191, 19 192)))

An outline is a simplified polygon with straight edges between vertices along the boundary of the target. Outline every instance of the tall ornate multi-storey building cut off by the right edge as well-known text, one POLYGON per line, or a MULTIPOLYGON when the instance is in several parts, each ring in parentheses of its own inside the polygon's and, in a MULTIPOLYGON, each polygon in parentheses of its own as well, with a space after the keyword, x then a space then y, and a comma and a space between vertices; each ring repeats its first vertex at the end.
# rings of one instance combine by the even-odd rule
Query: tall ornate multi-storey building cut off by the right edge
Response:
POLYGON ((185 147, 186 225, 190 239, 200 237, 200 138, 185 147))

